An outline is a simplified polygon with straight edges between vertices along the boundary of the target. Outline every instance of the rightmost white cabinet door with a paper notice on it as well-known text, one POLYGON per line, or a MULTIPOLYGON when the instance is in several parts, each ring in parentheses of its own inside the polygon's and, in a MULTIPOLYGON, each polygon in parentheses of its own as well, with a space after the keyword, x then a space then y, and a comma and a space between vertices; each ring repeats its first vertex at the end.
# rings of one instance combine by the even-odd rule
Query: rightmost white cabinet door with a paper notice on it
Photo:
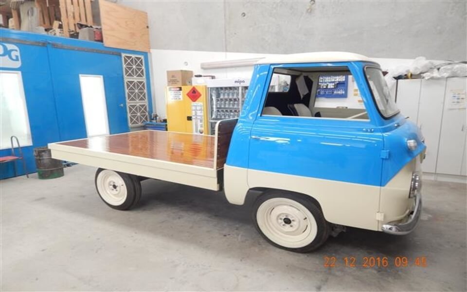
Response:
POLYGON ((467 78, 448 78, 439 141, 436 172, 460 175, 466 141, 466 109, 459 109, 456 96, 466 94, 467 78), (453 98, 454 97, 454 98, 453 98))

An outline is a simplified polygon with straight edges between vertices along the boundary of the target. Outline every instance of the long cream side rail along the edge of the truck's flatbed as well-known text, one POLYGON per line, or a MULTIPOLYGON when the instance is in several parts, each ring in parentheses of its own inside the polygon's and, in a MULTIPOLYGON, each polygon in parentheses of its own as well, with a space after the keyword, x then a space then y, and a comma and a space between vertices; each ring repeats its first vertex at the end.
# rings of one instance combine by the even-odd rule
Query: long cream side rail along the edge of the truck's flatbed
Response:
POLYGON ((212 168, 166 162, 144 157, 85 148, 49 144, 54 159, 101 167, 147 178, 219 190, 217 171, 212 168))

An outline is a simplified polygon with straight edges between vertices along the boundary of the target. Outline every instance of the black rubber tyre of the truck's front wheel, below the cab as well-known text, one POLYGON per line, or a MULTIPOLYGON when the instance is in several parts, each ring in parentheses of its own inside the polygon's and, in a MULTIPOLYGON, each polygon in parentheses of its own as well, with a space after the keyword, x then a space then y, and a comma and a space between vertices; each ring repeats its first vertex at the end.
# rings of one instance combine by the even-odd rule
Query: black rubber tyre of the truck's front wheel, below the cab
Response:
MULTIPOLYGON (((273 201, 278 201, 278 200, 273 200, 273 201)), ((273 204, 274 203, 269 201, 268 204, 266 204, 266 205, 271 205, 272 206, 273 204)), ((274 210, 274 207, 271 210, 274 210)), ((280 215, 280 216, 283 216, 283 215, 280 215)), ((287 217, 287 215, 285 215, 285 216, 287 217)), ((323 243, 329 237, 329 232, 330 232, 329 225, 328 225, 328 222, 324 219, 323 212, 321 211, 321 208, 317 205, 317 203, 314 202, 313 199, 307 197, 306 195, 297 194, 297 193, 290 193, 290 192, 286 192, 286 191, 278 191, 278 190, 267 191, 264 194, 260 195, 256 199, 256 201, 254 202, 252 217, 253 217, 253 222, 254 222, 254 225, 256 227, 256 230, 261 234, 262 237, 264 237, 270 244, 272 244, 272 245, 274 245, 274 246, 276 246, 278 248, 287 250, 287 251, 291 251, 291 252, 295 252, 295 253, 308 253, 308 252, 311 252, 313 250, 316 250, 321 245, 323 245, 323 243), (316 221, 317 232, 316 232, 316 236, 314 237, 314 239, 312 239, 312 241, 309 244, 306 244, 304 246, 299 246, 299 247, 287 247, 287 246, 281 245, 278 242, 275 242, 275 241, 272 240, 274 236, 276 236, 276 238, 278 238, 277 236, 280 237, 280 235, 278 235, 279 233, 277 233, 276 235, 272 235, 271 236, 272 238, 269 238, 263 232, 263 230, 261 229, 261 227, 258 224, 258 216, 261 217, 262 214, 272 214, 272 211, 271 211, 271 213, 267 213, 267 212, 263 213, 264 212, 263 210, 265 210, 267 208, 267 207, 264 207, 264 208, 262 208, 262 211, 260 211, 261 213, 258 214, 258 209, 260 208, 260 206, 262 206, 263 203, 265 203, 265 202, 267 202, 267 201, 269 201, 271 199, 288 199, 288 200, 295 201, 296 203, 301 204, 303 207, 305 207, 311 213, 311 215, 314 217, 314 219, 316 221)), ((278 222, 279 222, 280 218, 281 217, 279 217, 277 219, 278 222)), ((264 223, 267 219, 266 220, 262 219, 262 220, 264 220, 263 223, 262 223, 262 226, 265 229, 265 231, 267 233, 269 232, 269 234, 272 234, 272 232, 268 231, 268 230, 271 230, 271 229, 268 229, 268 227, 266 227, 266 223, 264 223)), ((285 221, 285 220, 286 219, 284 219, 284 224, 291 224, 292 223, 292 222, 290 222, 290 220, 288 220, 288 221, 285 221)), ((274 223, 275 221, 270 220, 269 222, 270 223, 268 223, 268 224, 270 226, 275 225, 275 223, 274 223)), ((278 224, 281 225, 282 222, 278 223, 278 224)), ((282 225, 285 226, 284 224, 282 224, 282 225)), ((310 226, 310 230, 311 230, 311 224, 309 226, 310 226)), ((306 228, 308 228, 308 227, 306 227, 306 228)), ((277 227, 276 227, 275 230, 277 230, 277 227)), ((286 238, 286 237, 283 237, 283 238, 286 238)), ((286 240, 286 239, 284 239, 284 240, 286 240)), ((305 242, 306 242, 306 240, 305 240, 305 242)))

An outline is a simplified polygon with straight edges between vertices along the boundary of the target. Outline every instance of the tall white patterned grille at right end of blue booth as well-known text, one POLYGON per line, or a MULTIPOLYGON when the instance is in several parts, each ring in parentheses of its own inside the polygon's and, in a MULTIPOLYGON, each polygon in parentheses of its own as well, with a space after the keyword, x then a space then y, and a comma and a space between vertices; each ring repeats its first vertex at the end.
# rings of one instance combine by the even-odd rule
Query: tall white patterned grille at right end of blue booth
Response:
POLYGON ((122 61, 128 124, 140 127, 149 120, 144 56, 122 54, 122 61))

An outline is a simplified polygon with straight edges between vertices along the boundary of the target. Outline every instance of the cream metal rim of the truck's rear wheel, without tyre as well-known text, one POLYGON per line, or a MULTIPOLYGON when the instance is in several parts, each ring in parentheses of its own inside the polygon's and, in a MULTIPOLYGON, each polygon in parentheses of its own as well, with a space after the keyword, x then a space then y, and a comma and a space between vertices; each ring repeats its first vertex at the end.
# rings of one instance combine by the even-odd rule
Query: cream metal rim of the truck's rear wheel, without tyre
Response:
POLYGON ((112 206, 120 206, 126 201, 126 184, 113 170, 105 169, 97 175, 97 190, 104 201, 112 206))

